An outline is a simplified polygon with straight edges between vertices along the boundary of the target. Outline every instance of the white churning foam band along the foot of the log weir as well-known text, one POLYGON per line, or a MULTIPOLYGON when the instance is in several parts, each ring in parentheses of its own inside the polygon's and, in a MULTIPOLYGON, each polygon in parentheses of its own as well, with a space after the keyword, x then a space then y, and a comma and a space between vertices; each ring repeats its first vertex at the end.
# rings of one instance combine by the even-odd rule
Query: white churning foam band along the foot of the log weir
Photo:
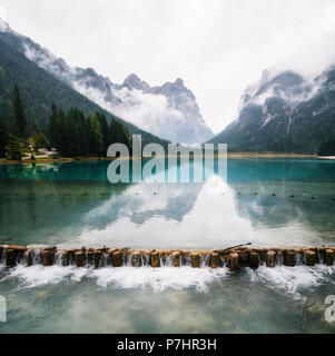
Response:
POLYGON ((263 284, 267 288, 288 295, 294 299, 302 299, 302 291, 317 287, 322 284, 335 284, 335 266, 317 265, 314 268, 306 266, 275 268, 259 267, 257 270, 245 268, 240 274, 230 274, 228 268, 211 269, 209 267, 92 267, 77 268, 75 266, 31 267, 17 266, 6 269, 0 266, 2 281, 14 283, 19 289, 43 287, 46 285, 66 283, 77 284, 83 279, 95 283, 97 286, 109 289, 151 288, 155 293, 166 289, 181 290, 194 288, 200 293, 207 293, 213 284, 225 285, 228 278, 246 276, 248 283, 263 284))

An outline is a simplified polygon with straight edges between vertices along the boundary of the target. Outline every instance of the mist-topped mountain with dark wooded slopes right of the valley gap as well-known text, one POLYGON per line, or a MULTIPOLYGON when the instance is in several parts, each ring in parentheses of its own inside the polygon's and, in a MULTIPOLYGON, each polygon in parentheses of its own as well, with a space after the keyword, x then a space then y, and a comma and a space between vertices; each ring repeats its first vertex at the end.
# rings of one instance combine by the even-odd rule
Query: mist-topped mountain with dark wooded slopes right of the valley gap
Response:
POLYGON ((317 154, 335 137, 335 66, 314 78, 265 70, 240 99, 238 117, 209 142, 230 151, 317 154))

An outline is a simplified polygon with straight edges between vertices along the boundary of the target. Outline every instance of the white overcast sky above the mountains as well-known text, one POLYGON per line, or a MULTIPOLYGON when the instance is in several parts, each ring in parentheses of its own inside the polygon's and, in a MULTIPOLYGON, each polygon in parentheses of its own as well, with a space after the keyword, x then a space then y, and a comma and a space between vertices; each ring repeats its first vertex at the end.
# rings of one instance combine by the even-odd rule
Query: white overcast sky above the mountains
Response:
POLYGON ((335 63, 334 0, 0 0, 0 17, 115 82, 183 78, 215 132, 265 68, 335 63))

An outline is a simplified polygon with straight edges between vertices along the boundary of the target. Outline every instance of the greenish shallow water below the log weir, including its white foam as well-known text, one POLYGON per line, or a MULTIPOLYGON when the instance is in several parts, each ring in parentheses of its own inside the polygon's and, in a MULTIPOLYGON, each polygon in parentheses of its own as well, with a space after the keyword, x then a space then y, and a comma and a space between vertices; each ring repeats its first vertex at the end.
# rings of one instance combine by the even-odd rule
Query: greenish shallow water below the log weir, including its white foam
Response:
POLYGON ((334 267, 17 267, 0 333, 334 333, 334 267))

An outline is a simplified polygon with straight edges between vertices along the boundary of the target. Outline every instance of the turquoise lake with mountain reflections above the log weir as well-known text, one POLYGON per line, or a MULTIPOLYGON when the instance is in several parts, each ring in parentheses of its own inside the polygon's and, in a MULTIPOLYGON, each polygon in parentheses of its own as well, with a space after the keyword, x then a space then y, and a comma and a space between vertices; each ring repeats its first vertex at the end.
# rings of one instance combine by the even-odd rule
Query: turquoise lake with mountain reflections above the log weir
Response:
POLYGON ((106 178, 108 164, 0 166, 0 241, 132 248, 335 243, 334 161, 231 159, 227 181, 118 186, 106 178))

